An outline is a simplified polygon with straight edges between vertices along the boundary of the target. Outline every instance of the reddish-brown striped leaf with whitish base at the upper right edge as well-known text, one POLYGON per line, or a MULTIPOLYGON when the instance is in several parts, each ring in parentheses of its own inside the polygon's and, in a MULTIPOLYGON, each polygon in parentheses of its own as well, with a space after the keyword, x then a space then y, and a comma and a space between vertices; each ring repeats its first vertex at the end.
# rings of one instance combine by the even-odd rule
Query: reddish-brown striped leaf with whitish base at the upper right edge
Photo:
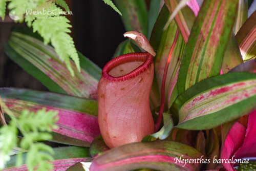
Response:
POLYGON ((244 23, 236 35, 244 61, 256 57, 256 11, 244 23))

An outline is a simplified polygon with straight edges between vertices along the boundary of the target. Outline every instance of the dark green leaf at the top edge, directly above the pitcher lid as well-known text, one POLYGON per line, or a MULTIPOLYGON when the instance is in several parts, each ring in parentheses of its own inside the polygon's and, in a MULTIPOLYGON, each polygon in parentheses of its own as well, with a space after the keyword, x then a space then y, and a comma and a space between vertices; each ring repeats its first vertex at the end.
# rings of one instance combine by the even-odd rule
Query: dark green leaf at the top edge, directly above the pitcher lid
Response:
POLYGON ((144 1, 115 0, 122 12, 122 20, 126 31, 138 31, 147 35, 147 10, 144 1))

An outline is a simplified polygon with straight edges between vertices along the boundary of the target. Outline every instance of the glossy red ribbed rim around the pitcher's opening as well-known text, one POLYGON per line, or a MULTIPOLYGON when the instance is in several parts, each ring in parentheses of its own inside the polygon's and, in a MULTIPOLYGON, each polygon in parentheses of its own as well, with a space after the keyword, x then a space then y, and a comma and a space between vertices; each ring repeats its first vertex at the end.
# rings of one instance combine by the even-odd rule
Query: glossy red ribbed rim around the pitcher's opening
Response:
POLYGON ((148 68, 150 68, 152 63, 153 63, 153 56, 148 52, 124 54, 106 63, 106 65, 102 70, 102 76, 103 78, 112 82, 129 80, 143 73, 144 71, 148 70, 148 68), (109 72, 115 67, 127 62, 132 62, 132 61, 142 61, 143 63, 136 69, 122 76, 114 77, 109 74, 109 72))

